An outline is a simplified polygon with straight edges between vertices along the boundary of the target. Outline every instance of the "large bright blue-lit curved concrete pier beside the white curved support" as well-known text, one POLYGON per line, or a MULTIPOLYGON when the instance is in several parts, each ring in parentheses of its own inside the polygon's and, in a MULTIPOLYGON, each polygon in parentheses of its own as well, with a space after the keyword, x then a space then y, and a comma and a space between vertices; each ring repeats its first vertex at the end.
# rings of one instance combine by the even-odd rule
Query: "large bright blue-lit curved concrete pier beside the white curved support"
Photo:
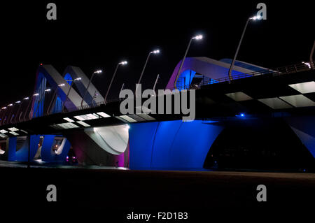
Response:
POLYGON ((202 168, 222 130, 218 122, 201 120, 132 124, 130 168, 202 168))

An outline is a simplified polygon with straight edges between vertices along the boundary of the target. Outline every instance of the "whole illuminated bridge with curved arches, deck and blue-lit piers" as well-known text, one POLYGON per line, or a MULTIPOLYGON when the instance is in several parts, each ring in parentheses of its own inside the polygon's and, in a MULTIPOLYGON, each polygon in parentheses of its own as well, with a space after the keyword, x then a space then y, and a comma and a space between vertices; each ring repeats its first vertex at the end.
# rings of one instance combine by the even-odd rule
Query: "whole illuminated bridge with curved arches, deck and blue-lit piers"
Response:
MULTIPOLYGON (((179 89, 181 99, 195 90, 191 122, 182 121, 183 111, 174 114, 174 95, 172 114, 143 113, 136 102, 135 114, 122 114, 123 99, 105 103, 80 68, 68 66, 61 75, 39 66, 34 93, 1 108, 0 157, 48 163, 76 157, 79 164, 134 169, 314 165, 314 63, 266 69, 237 61, 229 80, 230 63, 190 57, 181 73, 177 64, 165 89, 179 89)), ((165 105, 168 96, 156 98, 165 105)))

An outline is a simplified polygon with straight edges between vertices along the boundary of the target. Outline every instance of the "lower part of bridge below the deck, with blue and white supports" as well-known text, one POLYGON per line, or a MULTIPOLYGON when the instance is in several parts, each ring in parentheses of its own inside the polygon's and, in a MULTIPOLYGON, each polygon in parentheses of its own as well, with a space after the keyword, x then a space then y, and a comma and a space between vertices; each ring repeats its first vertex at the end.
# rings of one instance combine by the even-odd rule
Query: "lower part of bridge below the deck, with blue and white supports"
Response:
POLYGON ((314 116, 143 122, 11 137, 1 144, 6 150, 0 156, 27 161, 30 148, 31 161, 49 163, 65 163, 71 150, 79 164, 131 169, 298 170, 314 168, 314 132, 314 116))

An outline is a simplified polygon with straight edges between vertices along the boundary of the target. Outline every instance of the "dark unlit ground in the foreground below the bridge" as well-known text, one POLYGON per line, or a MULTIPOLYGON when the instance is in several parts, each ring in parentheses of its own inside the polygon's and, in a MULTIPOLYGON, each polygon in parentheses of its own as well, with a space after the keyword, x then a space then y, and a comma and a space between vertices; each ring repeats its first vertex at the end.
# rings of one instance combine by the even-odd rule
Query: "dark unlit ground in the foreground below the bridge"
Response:
MULTIPOLYGON (((102 217, 102 222, 127 220, 128 213, 187 212, 202 222, 215 215, 231 217, 295 210, 304 216, 314 208, 314 173, 248 173, 203 171, 130 171, 85 168, 0 167, 1 210, 29 215, 102 217), (46 187, 57 187, 57 202, 46 200, 46 187), (258 185, 267 187, 267 201, 258 202, 258 185), (300 213, 300 211, 305 213, 300 213), (111 221, 107 221, 110 220, 111 221)), ((288 216, 288 215, 286 215, 288 216)))

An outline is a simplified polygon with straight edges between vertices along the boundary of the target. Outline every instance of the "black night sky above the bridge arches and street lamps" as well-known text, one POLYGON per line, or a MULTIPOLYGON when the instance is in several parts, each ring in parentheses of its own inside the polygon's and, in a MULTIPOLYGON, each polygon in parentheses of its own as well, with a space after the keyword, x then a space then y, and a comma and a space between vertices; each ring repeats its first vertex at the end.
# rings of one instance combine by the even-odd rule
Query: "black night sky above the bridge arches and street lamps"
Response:
MULTIPOLYGON (((29 96, 39 63, 59 73, 79 66, 88 77, 103 69, 94 85, 104 95, 116 64, 115 94, 123 82, 133 89, 148 52, 143 81, 152 88, 158 73, 163 89, 181 60, 191 36, 188 57, 232 58, 246 19, 261 1, 11 1, 1 2, 0 106, 29 96), (48 2, 57 4, 57 20, 46 19, 48 2), (102 2, 102 3, 101 3, 102 2), (170 4, 172 2, 172 5, 170 4)), ((237 59, 267 68, 309 61, 314 43, 311 1, 262 1, 267 20, 248 24, 237 59)))

